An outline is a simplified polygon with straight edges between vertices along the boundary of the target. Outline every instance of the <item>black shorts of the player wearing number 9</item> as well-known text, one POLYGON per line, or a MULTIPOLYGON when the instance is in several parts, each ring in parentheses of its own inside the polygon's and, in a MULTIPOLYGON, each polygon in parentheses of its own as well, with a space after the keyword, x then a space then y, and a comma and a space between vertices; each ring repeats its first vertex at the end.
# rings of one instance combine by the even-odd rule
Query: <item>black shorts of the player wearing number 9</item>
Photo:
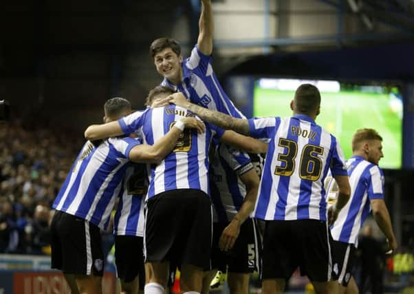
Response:
POLYGON ((145 262, 168 260, 210 269, 212 210, 210 198, 197 189, 160 193, 146 203, 145 262))

